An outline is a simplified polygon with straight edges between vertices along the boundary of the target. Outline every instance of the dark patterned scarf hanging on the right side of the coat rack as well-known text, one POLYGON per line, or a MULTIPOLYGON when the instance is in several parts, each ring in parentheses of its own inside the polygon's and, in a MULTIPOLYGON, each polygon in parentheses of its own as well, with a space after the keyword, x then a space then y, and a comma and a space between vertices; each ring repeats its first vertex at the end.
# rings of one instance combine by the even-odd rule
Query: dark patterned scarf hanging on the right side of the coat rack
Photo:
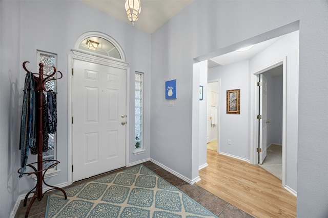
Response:
POLYGON ((48 133, 55 133, 57 127, 57 102, 56 92, 49 91, 47 94, 48 106, 48 133))

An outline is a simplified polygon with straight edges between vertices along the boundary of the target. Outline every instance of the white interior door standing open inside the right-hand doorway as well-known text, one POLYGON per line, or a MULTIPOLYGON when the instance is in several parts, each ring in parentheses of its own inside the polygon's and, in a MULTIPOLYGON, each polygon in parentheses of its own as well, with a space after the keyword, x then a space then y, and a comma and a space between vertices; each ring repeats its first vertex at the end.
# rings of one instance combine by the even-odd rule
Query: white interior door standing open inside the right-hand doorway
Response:
POLYGON ((259 153, 259 163, 262 164, 265 157, 267 157, 267 124, 269 123, 267 116, 267 96, 268 96, 268 80, 264 77, 263 74, 260 75, 260 81, 262 82, 262 86, 260 86, 260 90, 262 94, 260 94, 260 114, 262 115, 262 119, 260 120, 261 127, 260 129, 260 149, 259 153))

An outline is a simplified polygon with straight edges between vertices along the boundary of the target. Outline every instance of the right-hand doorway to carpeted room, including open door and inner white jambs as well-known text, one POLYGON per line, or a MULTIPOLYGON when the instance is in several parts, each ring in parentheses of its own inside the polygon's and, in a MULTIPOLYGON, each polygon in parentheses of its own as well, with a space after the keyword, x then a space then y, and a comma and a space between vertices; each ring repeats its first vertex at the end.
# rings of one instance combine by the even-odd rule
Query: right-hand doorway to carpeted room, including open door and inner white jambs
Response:
POLYGON ((286 162, 286 84, 285 59, 256 72, 258 99, 258 152, 259 166, 285 183, 286 162))

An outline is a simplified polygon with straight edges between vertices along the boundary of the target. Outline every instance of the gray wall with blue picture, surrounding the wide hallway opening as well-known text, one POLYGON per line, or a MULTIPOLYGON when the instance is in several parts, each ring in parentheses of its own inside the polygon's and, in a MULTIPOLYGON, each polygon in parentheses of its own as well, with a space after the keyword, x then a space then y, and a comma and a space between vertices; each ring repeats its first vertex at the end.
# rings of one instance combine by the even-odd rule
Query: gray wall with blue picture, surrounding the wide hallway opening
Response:
POLYGON ((152 34, 151 157, 186 177, 197 176, 191 147, 193 59, 231 52, 236 43, 299 20, 299 106, 296 115, 291 112, 298 134, 289 138, 294 146, 288 151, 299 162, 287 164, 292 176, 287 182, 297 186, 299 217, 327 216, 328 100, 314 99, 327 94, 327 7, 326 1, 194 1, 152 34), (173 78, 183 83, 176 107, 168 110, 162 86, 173 78))

